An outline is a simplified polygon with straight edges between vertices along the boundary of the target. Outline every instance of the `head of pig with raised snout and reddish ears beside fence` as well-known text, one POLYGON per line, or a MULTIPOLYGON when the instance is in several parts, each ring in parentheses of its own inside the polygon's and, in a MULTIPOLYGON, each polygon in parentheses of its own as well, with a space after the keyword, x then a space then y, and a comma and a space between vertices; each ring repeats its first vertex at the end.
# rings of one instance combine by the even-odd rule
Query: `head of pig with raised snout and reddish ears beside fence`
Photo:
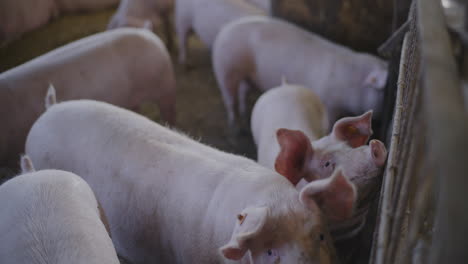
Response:
MULTIPOLYGON (((367 198, 378 188, 387 150, 379 140, 366 142, 372 135, 372 112, 358 117, 340 119, 330 135, 310 142, 301 131, 279 129, 277 139, 280 153, 275 169, 298 189, 307 182, 330 177, 337 167, 343 168, 346 177, 357 187, 359 208, 367 210, 367 198)), ((362 216, 360 216, 362 217, 362 216)), ((329 219, 333 224, 338 222, 329 219)))

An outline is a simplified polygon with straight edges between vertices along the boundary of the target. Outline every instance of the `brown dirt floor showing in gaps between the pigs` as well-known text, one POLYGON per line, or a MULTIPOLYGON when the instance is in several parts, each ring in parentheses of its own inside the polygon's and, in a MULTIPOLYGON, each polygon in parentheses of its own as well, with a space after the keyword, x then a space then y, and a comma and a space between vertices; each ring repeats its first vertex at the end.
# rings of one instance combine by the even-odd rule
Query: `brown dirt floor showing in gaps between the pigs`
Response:
MULTIPOLYGON (((93 14, 67 15, 25 34, 6 47, 0 48, 0 72, 66 43, 105 30, 113 13, 114 9, 109 9, 93 14)), ((160 32, 158 29, 156 31, 160 32)), ((164 40, 162 34, 158 35, 164 40)), ((189 40, 187 67, 177 63, 175 47, 171 56, 177 78, 175 128, 210 146, 255 159, 255 145, 248 128, 244 128, 234 137, 228 137, 232 133, 227 126, 224 104, 211 68, 210 50, 193 36, 189 40)), ((249 96, 250 107, 258 94, 253 93, 249 96)), ((154 121, 159 121, 155 104, 142 105, 140 112, 154 121)), ((0 182, 14 173, 10 168, 0 168, 0 182)))

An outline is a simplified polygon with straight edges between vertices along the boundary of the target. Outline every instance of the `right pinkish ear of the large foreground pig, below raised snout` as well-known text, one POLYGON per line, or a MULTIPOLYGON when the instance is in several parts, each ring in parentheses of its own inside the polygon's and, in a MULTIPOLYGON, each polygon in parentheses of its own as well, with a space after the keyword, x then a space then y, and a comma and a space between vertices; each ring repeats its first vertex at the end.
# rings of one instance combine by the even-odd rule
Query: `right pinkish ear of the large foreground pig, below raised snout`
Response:
POLYGON ((337 169, 332 177, 306 185, 299 198, 309 208, 313 208, 316 203, 327 219, 343 221, 353 214, 357 193, 354 184, 344 176, 341 169, 337 169))

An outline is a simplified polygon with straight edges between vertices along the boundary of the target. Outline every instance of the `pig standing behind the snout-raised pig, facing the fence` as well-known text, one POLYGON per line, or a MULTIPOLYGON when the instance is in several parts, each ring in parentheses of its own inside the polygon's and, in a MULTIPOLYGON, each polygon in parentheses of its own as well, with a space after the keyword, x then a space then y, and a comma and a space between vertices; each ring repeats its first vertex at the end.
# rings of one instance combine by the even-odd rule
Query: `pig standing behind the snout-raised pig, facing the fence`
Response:
POLYGON ((243 94, 249 87, 277 87, 281 84, 278 76, 313 89, 331 123, 343 114, 373 109, 378 115, 381 110, 385 61, 286 21, 257 16, 231 22, 218 34, 212 60, 231 126, 237 102, 240 114, 245 115, 243 94))

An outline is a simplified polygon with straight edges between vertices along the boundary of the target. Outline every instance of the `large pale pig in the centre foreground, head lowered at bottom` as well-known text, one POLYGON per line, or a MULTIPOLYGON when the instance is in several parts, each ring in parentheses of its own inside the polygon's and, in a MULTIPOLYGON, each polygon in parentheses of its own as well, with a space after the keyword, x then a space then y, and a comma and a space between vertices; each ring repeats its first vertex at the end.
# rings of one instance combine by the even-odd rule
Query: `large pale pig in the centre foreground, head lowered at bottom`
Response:
POLYGON ((356 199, 341 170, 298 192, 250 159, 92 100, 49 107, 26 153, 90 184, 118 254, 135 264, 334 263, 322 214, 346 219, 356 199))

